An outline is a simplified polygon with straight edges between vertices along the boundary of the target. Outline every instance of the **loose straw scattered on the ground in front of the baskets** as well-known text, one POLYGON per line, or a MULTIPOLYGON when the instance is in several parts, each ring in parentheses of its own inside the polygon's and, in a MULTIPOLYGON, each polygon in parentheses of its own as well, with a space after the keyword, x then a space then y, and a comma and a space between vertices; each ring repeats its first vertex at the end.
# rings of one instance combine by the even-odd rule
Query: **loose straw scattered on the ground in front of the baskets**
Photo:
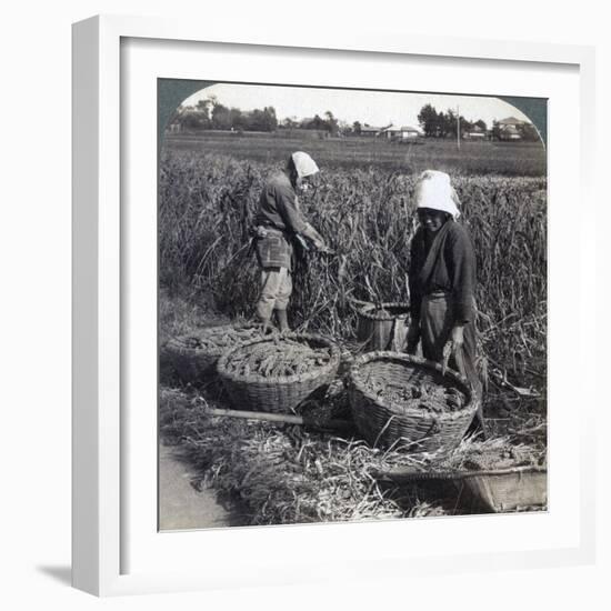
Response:
MULTIPOLYGON (((439 454, 382 451, 358 439, 209 417, 201 397, 161 393, 161 432, 180 443, 199 481, 239 500, 251 524, 338 522, 460 513, 455 490, 395 488, 373 473, 393 467, 433 469, 439 454)), ((507 440, 464 441, 450 457, 464 464, 477 448, 508 447, 507 440)), ((481 452, 480 452, 481 453, 481 452)))

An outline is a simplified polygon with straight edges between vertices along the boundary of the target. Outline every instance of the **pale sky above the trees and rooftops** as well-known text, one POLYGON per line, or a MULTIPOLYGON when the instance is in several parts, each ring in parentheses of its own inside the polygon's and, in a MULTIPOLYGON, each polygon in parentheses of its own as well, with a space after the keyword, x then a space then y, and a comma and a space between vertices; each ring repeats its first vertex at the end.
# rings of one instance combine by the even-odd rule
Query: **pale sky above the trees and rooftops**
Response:
POLYGON ((444 112, 449 108, 455 111, 458 106, 460 114, 468 121, 483 119, 488 127, 492 127, 494 119, 508 117, 529 120, 515 107, 498 98, 284 86, 219 83, 193 93, 183 101, 183 106, 196 106, 210 96, 216 96, 223 106, 242 111, 271 106, 279 121, 287 117, 303 119, 314 114, 324 118, 324 112, 330 110, 338 120, 349 124, 360 121, 374 127, 389 123, 419 127, 418 113, 427 103, 444 112))

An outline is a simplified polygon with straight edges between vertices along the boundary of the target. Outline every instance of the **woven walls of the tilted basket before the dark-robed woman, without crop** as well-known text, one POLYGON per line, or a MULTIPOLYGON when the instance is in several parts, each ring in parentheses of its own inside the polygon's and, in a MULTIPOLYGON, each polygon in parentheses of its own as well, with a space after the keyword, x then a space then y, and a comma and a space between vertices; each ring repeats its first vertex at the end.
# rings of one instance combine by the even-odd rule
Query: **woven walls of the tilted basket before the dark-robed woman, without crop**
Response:
POLYGON ((478 403, 468 381, 438 363, 398 352, 370 352, 350 368, 348 395, 354 423, 374 447, 407 447, 413 452, 451 450, 465 433, 478 403), (455 388, 465 395, 464 405, 452 411, 404 409, 379 398, 378 385, 455 388))

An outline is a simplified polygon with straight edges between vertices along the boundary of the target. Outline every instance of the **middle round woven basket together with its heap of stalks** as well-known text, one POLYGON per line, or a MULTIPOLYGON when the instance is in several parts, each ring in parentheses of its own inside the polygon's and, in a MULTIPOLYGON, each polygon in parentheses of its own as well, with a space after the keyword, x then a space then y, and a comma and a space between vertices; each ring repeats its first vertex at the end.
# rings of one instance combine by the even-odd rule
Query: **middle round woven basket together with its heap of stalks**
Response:
POLYGON ((340 349, 314 334, 273 334, 226 352, 219 377, 236 409, 288 413, 329 384, 340 364, 340 349))

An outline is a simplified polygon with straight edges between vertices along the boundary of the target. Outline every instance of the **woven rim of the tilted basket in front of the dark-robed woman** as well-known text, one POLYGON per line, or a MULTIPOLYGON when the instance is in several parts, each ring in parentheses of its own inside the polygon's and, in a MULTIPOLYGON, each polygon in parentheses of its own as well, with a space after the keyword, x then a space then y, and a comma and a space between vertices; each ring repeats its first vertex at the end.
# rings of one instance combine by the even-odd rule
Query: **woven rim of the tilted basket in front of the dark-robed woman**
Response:
POLYGON ((389 350, 377 350, 374 352, 368 352, 367 354, 363 354, 354 360, 348 373, 349 379, 358 392, 360 392, 363 397, 365 397, 369 401, 371 401, 375 405, 387 409, 391 414, 398 418, 402 418, 402 417, 403 418, 404 417, 412 417, 412 418, 431 417, 432 418, 431 414, 428 414, 423 410, 404 409, 402 410, 401 413, 397 413, 395 408, 390 401, 383 401, 379 399, 375 394, 373 394, 367 388, 364 380, 362 379, 361 373, 359 371, 360 368, 362 368, 362 365, 371 361, 384 361, 384 360, 399 361, 403 364, 415 364, 419 367, 433 369, 444 378, 450 378, 451 380, 453 380, 457 383, 457 385, 459 385, 460 390, 467 394, 467 402, 462 409, 441 412, 439 414, 435 413, 434 414, 435 420, 441 420, 441 421, 457 420, 459 418, 462 418, 465 413, 474 412, 478 409, 478 404, 473 395, 473 391, 469 385, 469 381, 467 380, 467 378, 463 378, 458 371, 453 371, 452 369, 445 369, 445 371, 443 371, 443 368, 439 363, 435 363, 434 361, 429 361, 427 359, 423 359, 421 357, 415 357, 412 354, 405 354, 404 352, 392 352, 389 350))

